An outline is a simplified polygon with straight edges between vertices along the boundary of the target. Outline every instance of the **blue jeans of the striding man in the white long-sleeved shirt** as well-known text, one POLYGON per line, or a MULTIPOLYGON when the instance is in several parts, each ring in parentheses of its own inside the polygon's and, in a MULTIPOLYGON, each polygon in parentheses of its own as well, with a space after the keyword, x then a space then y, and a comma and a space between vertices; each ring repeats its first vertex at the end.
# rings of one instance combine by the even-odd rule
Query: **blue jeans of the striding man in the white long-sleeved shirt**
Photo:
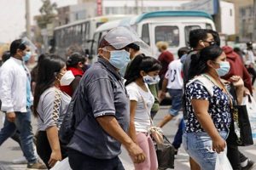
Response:
POLYGON ((37 157, 34 153, 32 141, 31 111, 27 111, 25 113, 15 112, 15 114, 15 122, 9 122, 5 119, 4 126, 0 132, 0 145, 2 145, 5 140, 9 139, 9 137, 14 135, 16 130, 19 130, 21 150, 23 151, 28 163, 35 163, 37 161, 37 157))

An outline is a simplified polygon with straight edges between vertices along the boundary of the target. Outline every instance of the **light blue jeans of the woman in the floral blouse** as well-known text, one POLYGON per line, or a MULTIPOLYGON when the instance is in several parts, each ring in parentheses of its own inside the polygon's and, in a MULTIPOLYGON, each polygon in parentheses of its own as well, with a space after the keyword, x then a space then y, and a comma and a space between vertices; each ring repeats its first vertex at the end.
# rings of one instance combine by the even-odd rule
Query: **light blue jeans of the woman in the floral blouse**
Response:
MULTIPOLYGON (((228 132, 218 132, 223 139, 226 139, 228 132)), ((212 150, 212 139, 205 133, 183 133, 184 150, 201 167, 201 170, 214 170, 217 152, 212 150)))

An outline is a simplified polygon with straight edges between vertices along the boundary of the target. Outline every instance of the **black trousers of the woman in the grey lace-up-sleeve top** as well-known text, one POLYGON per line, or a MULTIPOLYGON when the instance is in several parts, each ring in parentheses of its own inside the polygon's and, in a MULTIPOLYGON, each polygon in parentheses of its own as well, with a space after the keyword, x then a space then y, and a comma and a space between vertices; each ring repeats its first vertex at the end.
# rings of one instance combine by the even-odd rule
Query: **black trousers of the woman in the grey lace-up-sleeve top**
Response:
MULTIPOLYGON (((38 138, 37 138, 37 151, 38 156, 44 161, 44 164, 46 167, 49 167, 48 161, 51 155, 51 148, 49 145, 49 140, 47 138, 46 131, 39 131, 38 132, 38 138)), ((65 150, 63 147, 61 147, 61 156, 62 159, 65 159, 67 157, 67 150, 65 150)))

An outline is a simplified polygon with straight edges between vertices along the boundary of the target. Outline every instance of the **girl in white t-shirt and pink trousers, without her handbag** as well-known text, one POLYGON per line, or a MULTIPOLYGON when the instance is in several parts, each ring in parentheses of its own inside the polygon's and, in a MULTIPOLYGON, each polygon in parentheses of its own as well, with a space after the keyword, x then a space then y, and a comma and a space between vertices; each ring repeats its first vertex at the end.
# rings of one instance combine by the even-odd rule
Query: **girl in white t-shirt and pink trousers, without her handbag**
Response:
POLYGON ((134 164, 136 170, 156 170, 158 168, 153 140, 148 133, 149 127, 152 125, 150 110, 154 104, 154 96, 150 93, 146 82, 159 82, 160 69, 161 65, 158 60, 148 56, 137 56, 131 62, 125 75, 125 87, 131 102, 129 135, 146 154, 145 161, 134 164))

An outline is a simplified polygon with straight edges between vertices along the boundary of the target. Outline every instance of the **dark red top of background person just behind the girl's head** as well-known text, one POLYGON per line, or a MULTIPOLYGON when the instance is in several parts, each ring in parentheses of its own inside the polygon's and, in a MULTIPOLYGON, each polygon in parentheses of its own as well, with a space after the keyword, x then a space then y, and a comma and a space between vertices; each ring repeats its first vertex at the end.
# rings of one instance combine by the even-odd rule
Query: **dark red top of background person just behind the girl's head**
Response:
POLYGON ((160 77, 165 77, 166 71, 168 70, 168 65, 173 61, 173 54, 170 53, 168 50, 164 51, 160 54, 158 60, 162 65, 162 70, 160 70, 160 77))

